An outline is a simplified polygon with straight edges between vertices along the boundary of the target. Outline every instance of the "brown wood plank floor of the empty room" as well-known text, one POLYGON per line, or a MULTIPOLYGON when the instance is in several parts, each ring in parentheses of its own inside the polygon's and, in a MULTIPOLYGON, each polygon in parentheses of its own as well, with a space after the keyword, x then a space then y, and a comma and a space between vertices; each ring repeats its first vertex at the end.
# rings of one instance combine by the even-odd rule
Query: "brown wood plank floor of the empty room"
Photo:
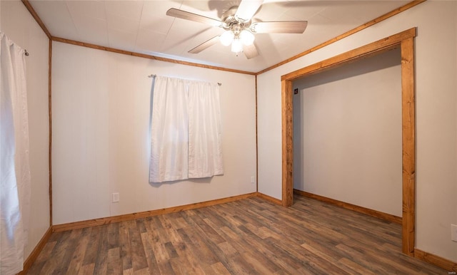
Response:
POLYGON ((28 274, 448 274, 401 254, 399 224, 295 197, 51 235, 28 274))

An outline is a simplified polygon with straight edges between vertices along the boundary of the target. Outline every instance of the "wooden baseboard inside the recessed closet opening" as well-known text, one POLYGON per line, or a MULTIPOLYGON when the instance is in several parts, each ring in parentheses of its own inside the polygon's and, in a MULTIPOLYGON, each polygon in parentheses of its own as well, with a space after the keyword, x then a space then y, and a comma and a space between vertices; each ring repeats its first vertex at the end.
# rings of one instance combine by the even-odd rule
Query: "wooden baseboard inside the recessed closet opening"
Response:
POLYGON ((296 190, 296 189, 293 190, 293 194, 298 194, 298 195, 301 195, 303 197, 311 197, 312 199, 318 199, 318 200, 320 200, 322 202, 328 202, 328 203, 334 204, 334 205, 336 205, 338 207, 351 209, 351 210, 359 212, 359 213, 367 214, 367 215, 370 215, 370 216, 373 216, 373 217, 377 217, 379 219, 384 219, 384 220, 386 220, 388 222, 395 222, 396 224, 401 224, 401 222, 402 222, 401 217, 394 216, 393 214, 387 214, 387 213, 376 211, 376 210, 373 210, 373 209, 368 209, 366 207, 360 207, 358 205, 350 204, 348 202, 341 202, 341 201, 339 201, 337 199, 331 199, 331 198, 328 198, 328 197, 323 197, 323 196, 320 196, 318 194, 312 194, 312 193, 308 193, 308 192, 304 192, 304 191, 296 190))

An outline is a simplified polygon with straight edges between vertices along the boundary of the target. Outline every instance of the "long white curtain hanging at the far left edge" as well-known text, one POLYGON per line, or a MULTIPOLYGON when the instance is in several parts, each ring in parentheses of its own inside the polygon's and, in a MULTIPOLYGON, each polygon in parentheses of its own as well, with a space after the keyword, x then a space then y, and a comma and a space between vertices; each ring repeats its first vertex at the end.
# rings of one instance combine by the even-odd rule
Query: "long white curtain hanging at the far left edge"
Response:
POLYGON ((24 50, 0 32, 0 274, 24 265, 30 211, 24 50))

